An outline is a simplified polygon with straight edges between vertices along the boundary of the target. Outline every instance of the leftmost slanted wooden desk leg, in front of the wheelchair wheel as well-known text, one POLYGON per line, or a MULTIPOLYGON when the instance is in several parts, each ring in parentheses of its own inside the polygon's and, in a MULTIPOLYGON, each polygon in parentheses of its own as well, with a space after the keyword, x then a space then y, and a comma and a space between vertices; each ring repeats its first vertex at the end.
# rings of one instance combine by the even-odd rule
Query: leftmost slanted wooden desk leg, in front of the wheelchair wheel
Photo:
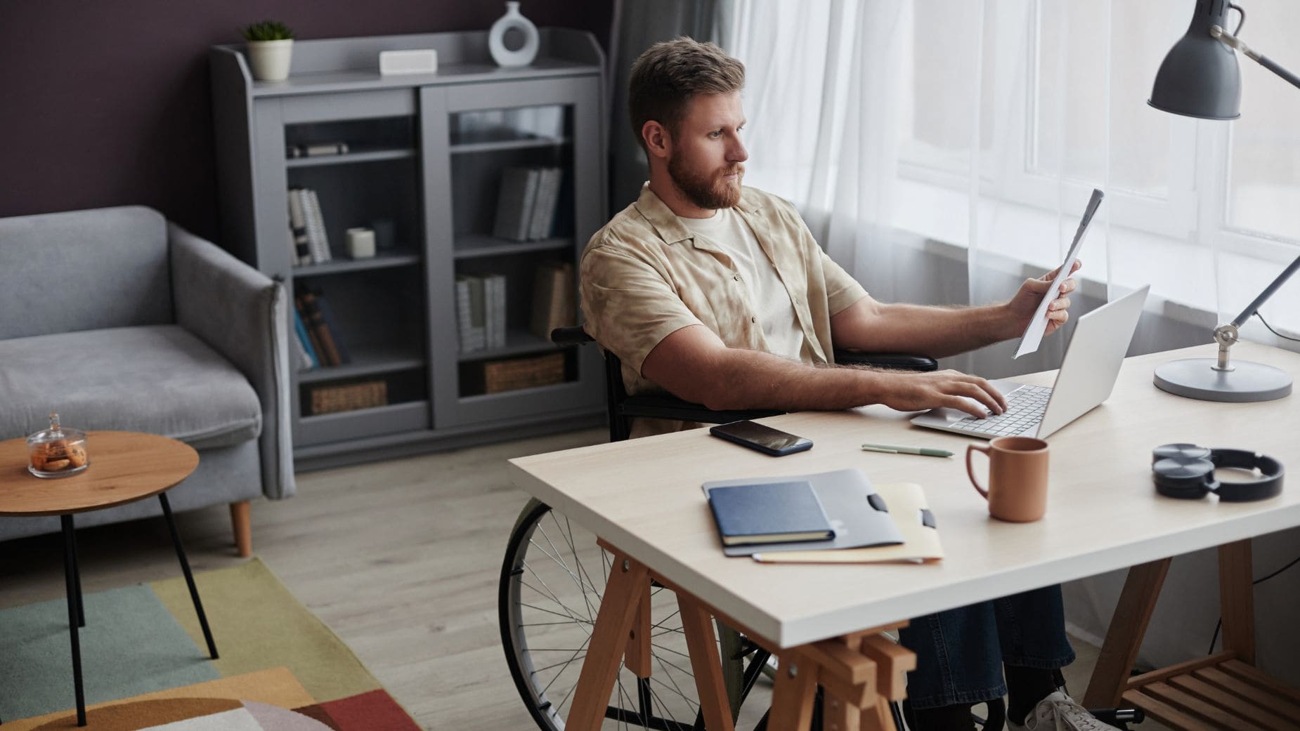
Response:
POLYGON ((632 561, 625 553, 614 552, 610 579, 604 584, 604 596, 595 615, 595 626, 592 627, 577 688, 573 691, 573 705, 564 722, 567 730, 599 731, 610 693, 619 678, 623 648, 649 583, 650 573, 644 565, 632 561))

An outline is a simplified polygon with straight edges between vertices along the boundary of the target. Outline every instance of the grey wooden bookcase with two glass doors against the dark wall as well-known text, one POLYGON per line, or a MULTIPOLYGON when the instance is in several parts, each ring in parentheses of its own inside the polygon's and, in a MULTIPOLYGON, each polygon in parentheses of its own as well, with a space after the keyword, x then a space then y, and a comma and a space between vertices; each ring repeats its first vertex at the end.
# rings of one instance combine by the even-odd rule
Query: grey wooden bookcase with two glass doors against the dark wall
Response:
POLYGON ((300 40, 283 82, 240 49, 209 55, 221 244, 294 300, 296 469, 599 423, 599 353, 543 336, 577 321, 577 256, 606 219, 595 39, 543 29, 511 70, 486 32, 300 40), (380 75, 380 51, 407 48, 438 71, 380 75), (348 256, 355 227, 373 257, 348 256))

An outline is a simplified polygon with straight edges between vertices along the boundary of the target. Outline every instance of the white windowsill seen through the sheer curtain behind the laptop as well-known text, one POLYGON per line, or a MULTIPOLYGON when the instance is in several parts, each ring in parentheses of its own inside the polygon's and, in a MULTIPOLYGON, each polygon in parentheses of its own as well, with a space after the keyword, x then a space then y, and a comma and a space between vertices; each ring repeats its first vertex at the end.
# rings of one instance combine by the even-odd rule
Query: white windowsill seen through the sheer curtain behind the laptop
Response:
MULTIPOLYGON (((898 183, 890 223, 923 238, 909 244, 909 236, 901 236, 902 245, 920 244, 932 253, 966 261, 971 235, 968 193, 916 180, 901 179, 898 183)), ((1024 275, 1050 270, 1065 257, 1082 213, 1082 205, 1078 213, 1058 217, 1028 205, 982 197, 979 238, 996 242, 978 251, 982 266, 1019 269, 1024 275)), ((1078 275, 1084 295, 1105 300, 1108 279, 1126 291, 1149 283, 1148 310, 1195 325, 1227 322, 1286 266, 1278 264, 1277 257, 1253 257, 1223 251, 1226 247, 1216 254, 1208 245, 1112 223, 1104 204, 1087 236, 1079 256, 1084 266, 1078 275), (1109 247, 1104 245, 1108 238, 1109 247), (1223 316, 1217 313, 1218 299, 1227 310, 1223 316)), ((1274 328, 1287 335, 1300 332, 1300 277, 1283 286, 1261 309, 1274 328)), ((1253 319, 1243 327, 1243 335, 1278 343, 1253 319)))

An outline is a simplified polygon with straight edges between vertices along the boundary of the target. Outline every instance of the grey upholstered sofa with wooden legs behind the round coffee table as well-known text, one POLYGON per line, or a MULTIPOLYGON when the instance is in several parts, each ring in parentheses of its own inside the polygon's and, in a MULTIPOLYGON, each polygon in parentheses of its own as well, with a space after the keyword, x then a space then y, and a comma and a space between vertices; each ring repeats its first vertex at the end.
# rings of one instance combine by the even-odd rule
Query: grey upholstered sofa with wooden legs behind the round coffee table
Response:
MULTIPOLYGON (((294 493, 285 308, 283 286, 150 208, 0 218, 0 439, 58 412, 186 441, 199 467, 173 509, 229 504, 247 554, 248 501, 294 493)), ((142 500, 77 526, 160 512, 142 500)), ((0 518, 0 540, 57 530, 0 518)))

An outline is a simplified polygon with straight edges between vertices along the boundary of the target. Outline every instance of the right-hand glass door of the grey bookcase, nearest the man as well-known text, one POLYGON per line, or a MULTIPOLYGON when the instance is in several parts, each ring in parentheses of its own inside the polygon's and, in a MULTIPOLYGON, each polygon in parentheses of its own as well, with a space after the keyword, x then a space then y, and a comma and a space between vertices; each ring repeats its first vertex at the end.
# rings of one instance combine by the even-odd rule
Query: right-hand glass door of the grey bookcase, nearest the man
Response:
POLYGON ((564 412, 602 397, 576 325, 577 257, 603 225, 599 82, 558 78, 420 93, 436 428, 564 412))

